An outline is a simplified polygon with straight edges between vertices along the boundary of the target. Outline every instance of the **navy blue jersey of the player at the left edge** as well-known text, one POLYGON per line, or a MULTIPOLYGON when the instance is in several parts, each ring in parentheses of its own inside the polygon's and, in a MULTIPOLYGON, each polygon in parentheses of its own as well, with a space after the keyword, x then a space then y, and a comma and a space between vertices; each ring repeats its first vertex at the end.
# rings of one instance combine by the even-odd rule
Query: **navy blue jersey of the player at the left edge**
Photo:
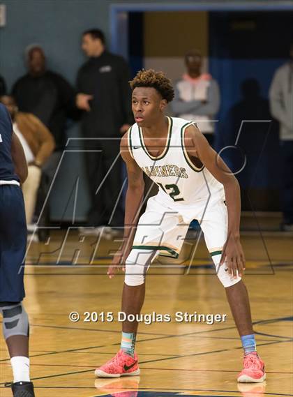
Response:
POLYGON ((13 126, 6 107, 0 103, 0 181, 20 181, 11 156, 13 126))

